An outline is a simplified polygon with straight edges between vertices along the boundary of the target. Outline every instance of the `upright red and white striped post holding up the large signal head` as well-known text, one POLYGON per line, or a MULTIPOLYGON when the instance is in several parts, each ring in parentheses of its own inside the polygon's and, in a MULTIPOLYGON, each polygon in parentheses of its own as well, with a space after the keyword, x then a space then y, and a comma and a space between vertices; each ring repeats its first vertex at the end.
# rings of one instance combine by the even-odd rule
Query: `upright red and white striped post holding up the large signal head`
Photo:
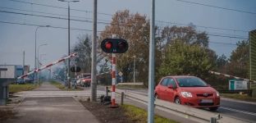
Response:
POLYGON ((116 106, 116 54, 112 53, 112 107, 116 106))

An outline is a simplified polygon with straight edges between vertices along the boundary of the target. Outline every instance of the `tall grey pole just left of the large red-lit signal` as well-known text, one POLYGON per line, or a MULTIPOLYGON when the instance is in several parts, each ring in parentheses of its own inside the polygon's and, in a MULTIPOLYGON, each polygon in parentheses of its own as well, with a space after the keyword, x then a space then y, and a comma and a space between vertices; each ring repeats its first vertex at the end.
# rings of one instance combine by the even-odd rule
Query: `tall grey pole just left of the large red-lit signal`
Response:
POLYGON ((97 48, 97 0, 94 0, 94 21, 93 21, 93 42, 92 42, 92 81, 91 81, 91 101, 97 101, 96 82, 96 48, 97 48))

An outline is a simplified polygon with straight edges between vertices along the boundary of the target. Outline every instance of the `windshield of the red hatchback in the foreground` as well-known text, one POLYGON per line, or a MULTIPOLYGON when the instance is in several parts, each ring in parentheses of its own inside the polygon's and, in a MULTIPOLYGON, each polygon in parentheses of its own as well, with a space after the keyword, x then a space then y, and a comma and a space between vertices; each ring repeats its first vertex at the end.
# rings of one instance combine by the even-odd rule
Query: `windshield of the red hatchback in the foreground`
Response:
POLYGON ((204 83, 197 77, 179 77, 176 78, 180 87, 207 87, 208 84, 204 83))

